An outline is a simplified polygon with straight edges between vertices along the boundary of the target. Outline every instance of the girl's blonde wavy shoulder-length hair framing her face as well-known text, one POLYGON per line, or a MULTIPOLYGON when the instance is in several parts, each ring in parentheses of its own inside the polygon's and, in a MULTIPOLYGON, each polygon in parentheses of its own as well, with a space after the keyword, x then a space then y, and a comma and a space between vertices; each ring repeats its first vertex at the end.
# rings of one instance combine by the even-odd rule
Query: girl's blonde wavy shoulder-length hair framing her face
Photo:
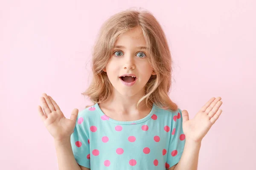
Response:
MULTIPOLYGON (((151 75, 145 85, 145 94, 137 102, 137 108, 143 100, 154 103, 159 108, 177 111, 177 105, 169 98, 172 85, 172 57, 163 29, 151 12, 128 9, 111 16, 100 28, 92 53, 92 82, 81 93, 90 97, 93 105, 104 102, 112 94, 112 84, 106 72, 116 39, 126 31, 139 26, 145 37, 148 49, 148 61, 156 75, 151 75)), ((86 108, 91 105, 87 105, 86 108)))

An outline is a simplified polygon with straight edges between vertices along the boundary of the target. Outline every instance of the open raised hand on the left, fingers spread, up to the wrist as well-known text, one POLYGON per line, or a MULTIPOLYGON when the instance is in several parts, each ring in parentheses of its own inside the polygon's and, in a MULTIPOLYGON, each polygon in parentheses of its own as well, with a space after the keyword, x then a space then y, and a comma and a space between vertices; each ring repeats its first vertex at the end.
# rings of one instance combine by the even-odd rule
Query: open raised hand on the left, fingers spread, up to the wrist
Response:
POLYGON ((44 122, 45 127, 56 141, 70 139, 76 125, 78 109, 74 109, 70 119, 67 119, 51 96, 43 94, 40 97, 41 106, 38 106, 38 113, 44 122))

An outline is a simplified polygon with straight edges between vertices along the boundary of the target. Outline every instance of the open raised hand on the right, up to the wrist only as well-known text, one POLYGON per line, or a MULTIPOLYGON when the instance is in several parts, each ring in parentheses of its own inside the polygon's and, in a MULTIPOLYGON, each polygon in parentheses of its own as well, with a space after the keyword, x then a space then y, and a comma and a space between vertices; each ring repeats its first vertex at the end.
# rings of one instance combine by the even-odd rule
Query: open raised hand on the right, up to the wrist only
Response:
POLYGON ((195 115, 189 120, 189 113, 186 110, 182 111, 183 132, 186 140, 193 142, 201 142, 212 125, 221 115, 222 110, 219 108, 222 105, 221 97, 212 97, 195 115))

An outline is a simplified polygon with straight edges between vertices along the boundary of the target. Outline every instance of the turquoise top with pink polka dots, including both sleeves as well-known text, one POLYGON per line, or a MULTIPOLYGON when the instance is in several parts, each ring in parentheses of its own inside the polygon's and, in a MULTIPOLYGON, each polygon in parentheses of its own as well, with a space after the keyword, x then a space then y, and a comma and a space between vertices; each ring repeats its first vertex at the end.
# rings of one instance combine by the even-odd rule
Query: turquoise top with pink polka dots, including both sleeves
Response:
POLYGON ((180 109, 153 104, 143 119, 125 122, 106 116, 98 103, 79 112, 70 140, 76 162, 91 170, 166 170, 186 141, 180 109))

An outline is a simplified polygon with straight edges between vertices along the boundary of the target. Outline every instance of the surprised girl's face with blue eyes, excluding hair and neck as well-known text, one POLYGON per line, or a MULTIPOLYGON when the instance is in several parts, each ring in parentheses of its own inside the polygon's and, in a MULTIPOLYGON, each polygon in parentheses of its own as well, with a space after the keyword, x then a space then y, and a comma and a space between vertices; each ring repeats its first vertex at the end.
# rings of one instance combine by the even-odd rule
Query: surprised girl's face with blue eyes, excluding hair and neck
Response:
MULTIPOLYGON (((146 42, 140 27, 136 27, 118 37, 112 56, 106 68, 108 78, 120 94, 124 96, 144 95, 144 86, 151 75, 155 75, 148 62, 146 42), (122 74, 135 74, 134 85, 127 86, 119 78, 122 74)), ((132 80, 131 80, 132 81, 132 80)))

